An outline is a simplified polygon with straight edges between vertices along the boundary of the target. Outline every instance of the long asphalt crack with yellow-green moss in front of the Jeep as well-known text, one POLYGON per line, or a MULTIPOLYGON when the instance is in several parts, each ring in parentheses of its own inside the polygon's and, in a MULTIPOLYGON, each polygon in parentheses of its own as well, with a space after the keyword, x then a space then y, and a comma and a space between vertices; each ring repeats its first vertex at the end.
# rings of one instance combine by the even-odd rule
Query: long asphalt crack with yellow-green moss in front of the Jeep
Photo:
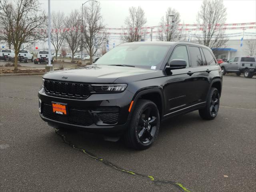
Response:
POLYGON ((90 158, 93 158, 94 160, 98 160, 99 162, 102 162, 104 165, 114 169, 114 170, 118 170, 122 173, 126 173, 126 174, 130 174, 132 176, 136 176, 136 177, 140 177, 140 178, 148 178, 150 179, 154 184, 156 185, 160 185, 160 184, 171 184, 173 186, 175 186, 176 188, 180 189, 182 192, 192 192, 190 190, 188 190, 188 188, 185 188, 182 184, 178 183, 178 182, 174 182, 174 181, 170 181, 170 180, 159 180, 159 179, 156 179, 154 178, 153 176, 150 176, 150 175, 143 175, 143 174, 139 174, 139 173, 136 173, 136 172, 132 172, 132 171, 129 171, 129 170, 124 170, 116 165, 114 165, 113 163, 107 161, 107 160, 104 160, 102 158, 99 158, 99 157, 96 157, 96 155, 84 150, 84 149, 80 149, 78 148, 76 145, 72 144, 71 142, 67 141, 66 140, 66 136, 64 134, 60 134, 59 130, 56 129, 55 130, 56 134, 58 134, 59 136, 62 137, 62 140, 64 143, 68 144, 69 146, 71 146, 72 148, 76 149, 76 150, 79 150, 81 151, 82 153, 86 154, 87 156, 89 156, 90 158))

